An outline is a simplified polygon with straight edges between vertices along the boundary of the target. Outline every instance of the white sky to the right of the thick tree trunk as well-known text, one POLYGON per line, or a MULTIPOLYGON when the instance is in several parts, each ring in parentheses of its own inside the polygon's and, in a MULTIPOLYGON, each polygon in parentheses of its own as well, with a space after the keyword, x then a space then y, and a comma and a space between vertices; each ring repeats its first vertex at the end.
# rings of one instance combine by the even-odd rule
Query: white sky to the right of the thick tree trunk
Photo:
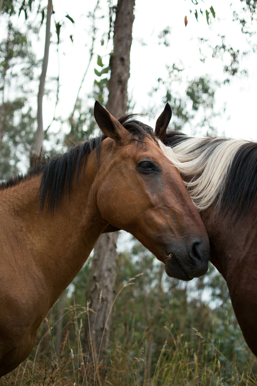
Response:
MULTIPOLYGON (((201 3, 201 2, 199 2, 201 3)), ((240 1, 234 1, 233 5, 225 1, 206 1, 202 3, 202 9, 213 5, 216 19, 209 26, 201 15, 198 15, 197 23, 195 15, 190 15, 189 9, 194 10, 191 1, 166 1, 156 2, 136 0, 136 18, 133 28, 134 44, 131 51, 131 80, 130 90, 133 89, 133 97, 137 103, 144 106, 145 91, 151 85, 156 84, 158 76, 165 76, 165 64, 179 63, 181 60, 185 70, 183 78, 193 79, 207 74, 212 81, 221 81, 224 78, 223 63, 212 58, 212 49, 208 44, 202 44, 202 52, 207 56, 205 63, 200 61, 198 37, 209 40, 211 47, 220 43, 219 35, 225 35, 225 43, 241 52, 249 49, 246 36, 242 34, 240 25, 233 22, 233 10, 240 10, 240 1), (175 5, 176 3, 176 5, 175 5), (146 5, 147 4, 147 5, 146 5), (188 17, 188 25, 184 25, 184 17, 188 17), (144 24, 142 24, 144 22, 144 24), (169 25, 171 27, 170 47, 158 46, 156 36, 160 30, 169 25), (148 44, 140 47, 137 40, 142 37, 148 44), (150 49, 150 46, 152 49, 150 49), (138 60, 136 59, 138 58, 138 60), (151 70, 143 70, 150 67, 151 70), (162 75, 163 74, 163 75, 162 75), (136 97, 135 97, 136 95, 136 97)), ((198 11, 199 14, 199 11, 198 11)), ((255 31, 256 31, 255 24, 255 31)), ((248 39, 250 40, 250 39, 248 39)), ((256 36, 252 37, 252 44, 256 44, 256 36)), ((216 111, 222 110, 226 104, 226 113, 214 121, 218 134, 231 137, 256 138, 256 86, 257 86, 257 56, 251 54, 240 63, 240 68, 246 68, 250 76, 238 74, 231 80, 230 85, 217 88, 215 100, 216 111)), ((183 93, 181 95, 183 97, 183 93)), ((160 101, 157 102, 158 105, 160 101)), ((186 129, 184 131, 187 131, 186 129)), ((199 132, 199 131, 198 131, 199 132)), ((205 134, 205 133, 203 133, 205 134)))

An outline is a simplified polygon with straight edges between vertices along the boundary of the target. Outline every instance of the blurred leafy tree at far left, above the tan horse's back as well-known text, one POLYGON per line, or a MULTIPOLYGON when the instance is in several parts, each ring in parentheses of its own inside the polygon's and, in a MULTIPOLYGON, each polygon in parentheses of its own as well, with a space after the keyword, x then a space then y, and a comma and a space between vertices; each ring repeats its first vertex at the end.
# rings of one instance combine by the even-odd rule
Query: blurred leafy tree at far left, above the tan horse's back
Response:
POLYGON ((27 33, 9 20, 0 41, 0 176, 20 171, 33 141, 35 111, 29 103, 37 59, 27 33), (14 92, 15 90, 15 92, 14 92))

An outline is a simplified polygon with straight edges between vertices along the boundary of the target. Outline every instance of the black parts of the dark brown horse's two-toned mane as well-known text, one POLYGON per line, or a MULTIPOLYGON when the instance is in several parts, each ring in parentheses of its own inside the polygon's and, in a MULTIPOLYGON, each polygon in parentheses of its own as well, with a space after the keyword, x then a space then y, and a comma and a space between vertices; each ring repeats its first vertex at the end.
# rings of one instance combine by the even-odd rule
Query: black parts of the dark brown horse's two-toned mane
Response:
MULTIPOLYGON (((175 147, 180 142, 187 140, 187 135, 168 131, 167 138, 163 140, 166 146, 175 147)), ((210 138, 206 138, 208 141, 210 138)), ((217 144, 220 141, 229 141, 228 138, 217 137, 214 139, 217 144)), ((199 145, 208 146, 208 142, 199 145)), ((214 149, 214 147, 213 147, 214 149)), ((218 167, 218 165, 217 165, 218 167)), ((233 161, 229 166, 225 178, 225 186, 221 193, 219 212, 228 215, 235 214, 238 219, 241 215, 245 217, 257 199, 257 143, 245 142, 237 150, 233 161)))

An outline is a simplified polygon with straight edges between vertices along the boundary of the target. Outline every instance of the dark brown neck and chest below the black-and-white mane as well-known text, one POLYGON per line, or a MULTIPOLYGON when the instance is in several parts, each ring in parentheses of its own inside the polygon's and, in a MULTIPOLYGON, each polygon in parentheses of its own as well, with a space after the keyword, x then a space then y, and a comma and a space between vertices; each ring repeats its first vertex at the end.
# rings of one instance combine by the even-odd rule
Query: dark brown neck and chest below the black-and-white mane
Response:
POLYGON ((201 212, 210 238, 210 261, 227 281, 232 306, 245 341, 257 356, 257 204, 237 221, 201 212))

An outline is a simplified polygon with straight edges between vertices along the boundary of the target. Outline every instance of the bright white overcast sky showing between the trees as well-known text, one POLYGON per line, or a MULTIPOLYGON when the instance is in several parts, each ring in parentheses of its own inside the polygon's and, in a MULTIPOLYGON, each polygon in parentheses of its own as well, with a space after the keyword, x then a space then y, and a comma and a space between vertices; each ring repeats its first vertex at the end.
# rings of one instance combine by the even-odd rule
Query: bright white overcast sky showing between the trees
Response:
MULTIPOLYGON (((46 0, 41 5, 47 4, 46 0)), ((194 0, 195 2, 195 0, 194 0)), ((55 10, 55 21, 65 21, 60 33, 60 101, 57 106, 57 116, 67 119, 72 111, 76 100, 77 91, 81 83, 85 68, 89 60, 89 47, 91 44, 91 21, 87 18, 88 12, 93 11, 96 0, 91 2, 68 0, 53 0, 55 10), (75 23, 72 24, 65 15, 69 14, 75 23), (72 40, 70 39, 72 35, 72 40)), ((135 20, 133 25, 133 43, 131 47, 131 77, 129 79, 129 98, 135 104, 134 112, 146 113, 152 108, 153 117, 150 124, 155 125, 156 117, 164 107, 161 91, 156 95, 149 96, 149 92, 157 85, 157 79, 167 78, 166 66, 176 63, 183 72, 181 73, 182 82, 180 86, 174 84, 174 90, 179 90, 183 97, 186 92, 187 80, 200 76, 208 76, 211 84, 222 82, 224 79, 223 66, 221 59, 212 58, 212 47, 221 43, 220 36, 225 36, 225 44, 240 52, 252 50, 257 44, 256 35, 242 34, 239 22, 233 21, 233 11, 238 13, 242 10, 242 2, 233 0, 212 0, 203 2, 195 6, 191 0, 136 0, 135 20), (207 24, 205 15, 202 16, 199 8, 205 12, 213 5, 216 18, 210 16, 210 25, 207 24), (198 20, 195 19, 195 8, 198 8, 198 20), (193 11, 190 14, 190 9, 193 11), (185 27, 185 15, 188 24, 185 27), (167 36, 169 43, 165 47, 160 43, 158 35, 166 27, 170 28, 167 36), (207 42, 200 42, 199 38, 204 38, 207 42), (201 54, 200 54, 201 49, 201 54), (205 61, 200 58, 205 57, 205 61)), ((92 89, 96 76, 94 67, 97 67, 97 54, 102 56, 104 65, 109 63, 109 52, 112 49, 112 42, 107 44, 106 33, 109 28, 108 17, 101 18, 102 15, 109 14, 107 0, 100 0, 100 9, 97 12, 96 26, 97 36, 94 48, 94 57, 89 68, 84 85, 81 89, 80 97, 83 98, 92 89), (104 35, 105 34, 105 35, 104 35), (104 45, 101 46, 101 39, 104 36, 104 45)), ((244 15, 245 16, 245 15, 244 15)), ((30 21, 39 22, 40 15, 30 16, 30 21)), ((3 20, 3 19, 2 19, 3 20)), ((52 20, 52 42, 56 41, 52 20)), ((25 26, 24 15, 21 14, 17 24, 25 26)), ((3 25, 3 24, 2 24, 3 25)), ((256 21, 251 27, 256 31, 256 21)), ((31 34, 33 49, 38 58, 44 54, 45 25, 40 29, 39 40, 31 34)), ((248 76, 239 73, 231 79, 229 84, 216 88, 215 93, 215 112, 220 112, 218 118, 214 118, 212 124, 217 127, 218 134, 225 134, 230 137, 257 138, 256 133, 256 85, 257 85, 257 54, 251 52, 242 60, 240 59, 239 70, 246 69, 248 76), (223 112, 226 107, 225 112, 223 112)), ((226 58, 225 58, 226 59, 226 58)), ((228 61, 228 58, 227 58, 228 61)), ((40 68, 39 68, 40 73, 40 68)), ((58 74, 58 58, 56 44, 50 46, 49 67, 47 77, 56 77, 58 74)), ((55 83, 48 83, 47 87, 55 90, 55 83)), ((35 93, 36 94, 36 93, 35 93)), ((35 103, 35 102, 34 102, 35 103)), ((93 100, 87 103, 93 104, 93 100)), ((46 128, 52 119, 55 104, 55 92, 44 97, 44 127, 46 128)), ((172 107, 172 106, 171 106, 172 107)), ((188 134, 193 130, 198 134, 201 129, 197 126, 200 122, 199 117, 195 120, 195 127, 185 126, 184 132, 188 134)), ((53 124, 52 130, 59 130, 59 124, 53 124)), ((61 135, 64 135, 65 124, 61 135)), ((68 130, 68 127, 67 127, 68 130)), ((205 132, 202 132, 205 134, 205 132)))

